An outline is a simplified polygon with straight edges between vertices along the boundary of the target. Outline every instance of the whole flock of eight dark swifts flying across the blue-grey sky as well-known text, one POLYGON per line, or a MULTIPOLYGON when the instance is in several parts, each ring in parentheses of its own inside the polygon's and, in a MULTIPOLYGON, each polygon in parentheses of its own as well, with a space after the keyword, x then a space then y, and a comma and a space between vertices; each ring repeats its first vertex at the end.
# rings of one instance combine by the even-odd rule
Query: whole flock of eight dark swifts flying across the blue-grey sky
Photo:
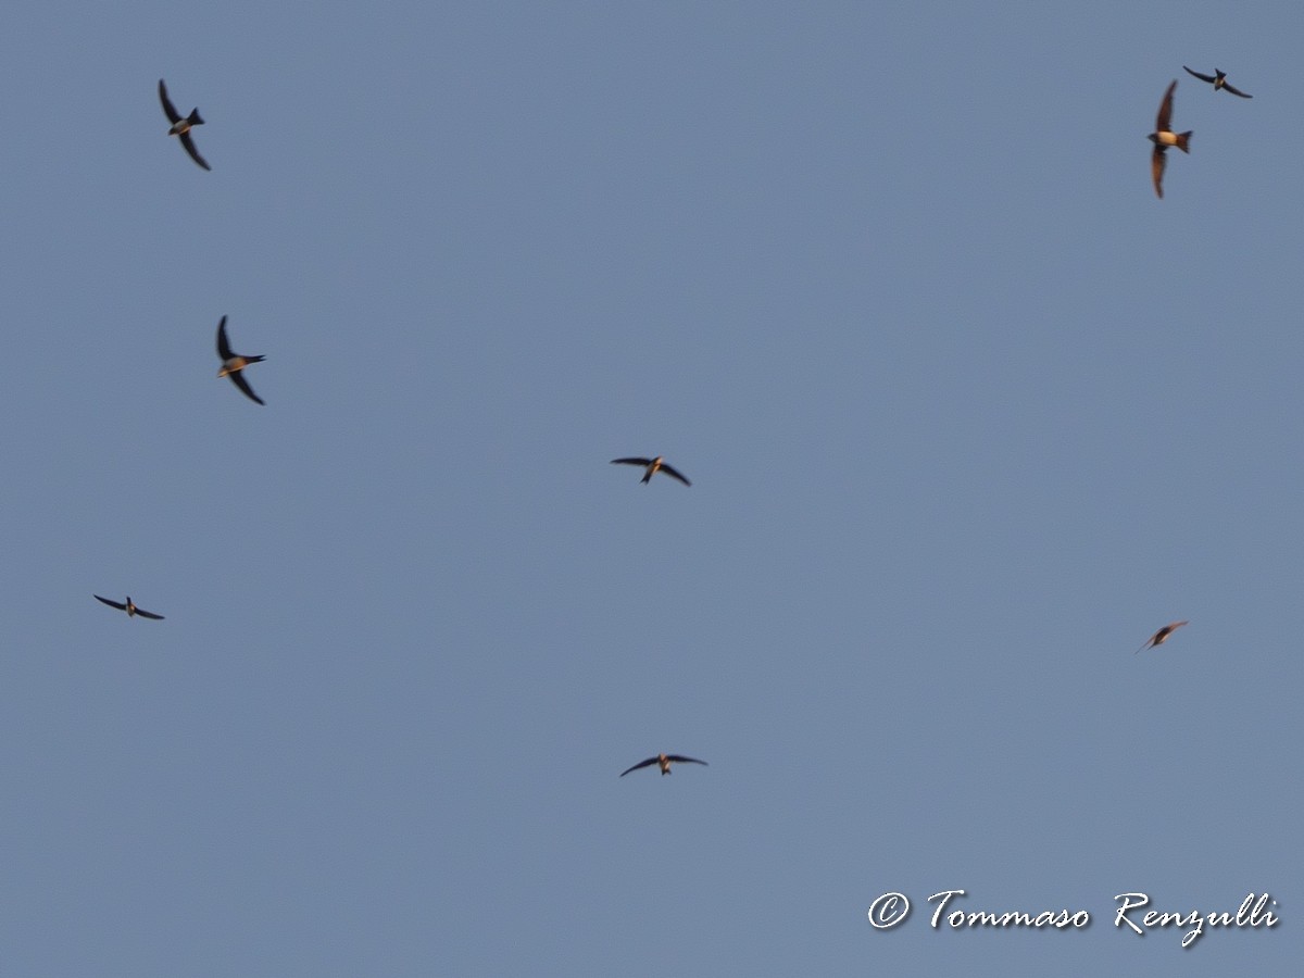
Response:
MULTIPOLYGON (((1217 68, 1214 69, 1213 74, 1201 74, 1200 72, 1192 72, 1185 65, 1183 65, 1183 68, 1189 74, 1193 74, 1196 78, 1200 78, 1200 81, 1209 82, 1210 85, 1213 85, 1214 91, 1222 89, 1224 91, 1231 93, 1232 95, 1239 95, 1243 99, 1253 98, 1253 95, 1247 95, 1240 89, 1232 87, 1227 82, 1227 73, 1221 72, 1217 68)), ((1161 198, 1163 197, 1163 167, 1166 163, 1166 153, 1168 147, 1176 146, 1183 153, 1191 153, 1189 149, 1191 136, 1193 130, 1187 130, 1184 133, 1175 133, 1172 132, 1171 128, 1172 93, 1176 87, 1178 87, 1178 81, 1176 78, 1174 78, 1172 85, 1170 85, 1168 90, 1163 93, 1163 100, 1159 103, 1159 116, 1155 119, 1154 132, 1150 133, 1149 136, 1150 141, 1154 143, 1154 153, 1150 156, 1150 175, 1154 179, 1154 192, 1161 198)), ((209 162, 203 156, 201 156, 200 151, 194 147, 194 137, 192 136, 194 126, 203 125, 203 119, 200 117, 200 110, 198 108, 192 110, 190 115, 188 116, 183 116, 180 112, 177 112, 176 106, 172 104, 172 99, 170 99, 167 95, 167 85, 163 83, 162 78, 159 78, 159 102, 163 103, 163 112, 164 115, 167 115, 168 123, 171 123, 171 128, 167 130, 168 136, 176 136, 180 140, 181 146, 185 149, 186 154, 200 167, 202 167, 203 170, 213 170, 213 167, 209 166, 209 162)), ((259 398, 257 394, 253 393, 253 387, 250 387, 249 381, 245 379, 244 370, 250 364, 257 364, 262 361, 265 357, 241 356, 240 353, 236 353, 231 349, 231 343, 227 339, 226 316, 223 316, 222 319, 218 322, 218 357, 222 360, 222 369, 218 370, 218 377, 219 378, 230 377, 231 382, 240 389, 241 394, 244 394, 246 398, 249 398, 249 400, 254 402, 256 404, 262 404, 263 403, 262 398, 259 398)), ((692 485, 692 482, 690 482, 689 479, 682 472, 679 472, 679 469, 674 468, 674 466, 666 462, 665 458, 662 458, 661 455, 657 455, 656 458, 651 459, 642 456, 612 459, 612 464, 638 466, 639 468, 643 469, 642 481, 644 485, 652 481, 652 476, 655 476, 657 472, 668 475, 672 479, 683 482, 685 485, 692 485)), ((110 599, 100 597, 99 595, 95 595, 95 600, 102 601, 110 608, 116 608, 120 612, 126 612, 128 617, 132 618, 138 615, 141 618, 149 618, 151 621, 163 621, 162 614, 155 614, 154 612, 146 612, 143 608, 140 608, 134 601, 132 601, 130 596, 126 597, 125 602, 111 601, 110 599)), ((1168 636, 1171 636, 1172 632, 1175 632, 1178 629, 1180 629, 1183 625, 1187 623, 1188 622, 1171 622, 1168 625, 1164 625, 1162 629, 1159 629, 1159 631, 1157 631, 1154 635, 1146 639, 1145 644, 1142 644, 1141 648, 1137 649, 1137 652, 1140 653, 1144 649, 1162 645, 1164 642, 1168 640, 1168 636)), ((669 775, 672 764, 705 764, 705 763, 707 762, 704 760, 698 760, 696 758, 687 758, 682 754, 657 754, 655 758, 640 760, 638 764, 626 768, 625 771, 621 772, 621 777, 625 777, 631 771, 648 768, 652 767, 653 764, 656 764, 661 769, 662 775, 669 775)))

